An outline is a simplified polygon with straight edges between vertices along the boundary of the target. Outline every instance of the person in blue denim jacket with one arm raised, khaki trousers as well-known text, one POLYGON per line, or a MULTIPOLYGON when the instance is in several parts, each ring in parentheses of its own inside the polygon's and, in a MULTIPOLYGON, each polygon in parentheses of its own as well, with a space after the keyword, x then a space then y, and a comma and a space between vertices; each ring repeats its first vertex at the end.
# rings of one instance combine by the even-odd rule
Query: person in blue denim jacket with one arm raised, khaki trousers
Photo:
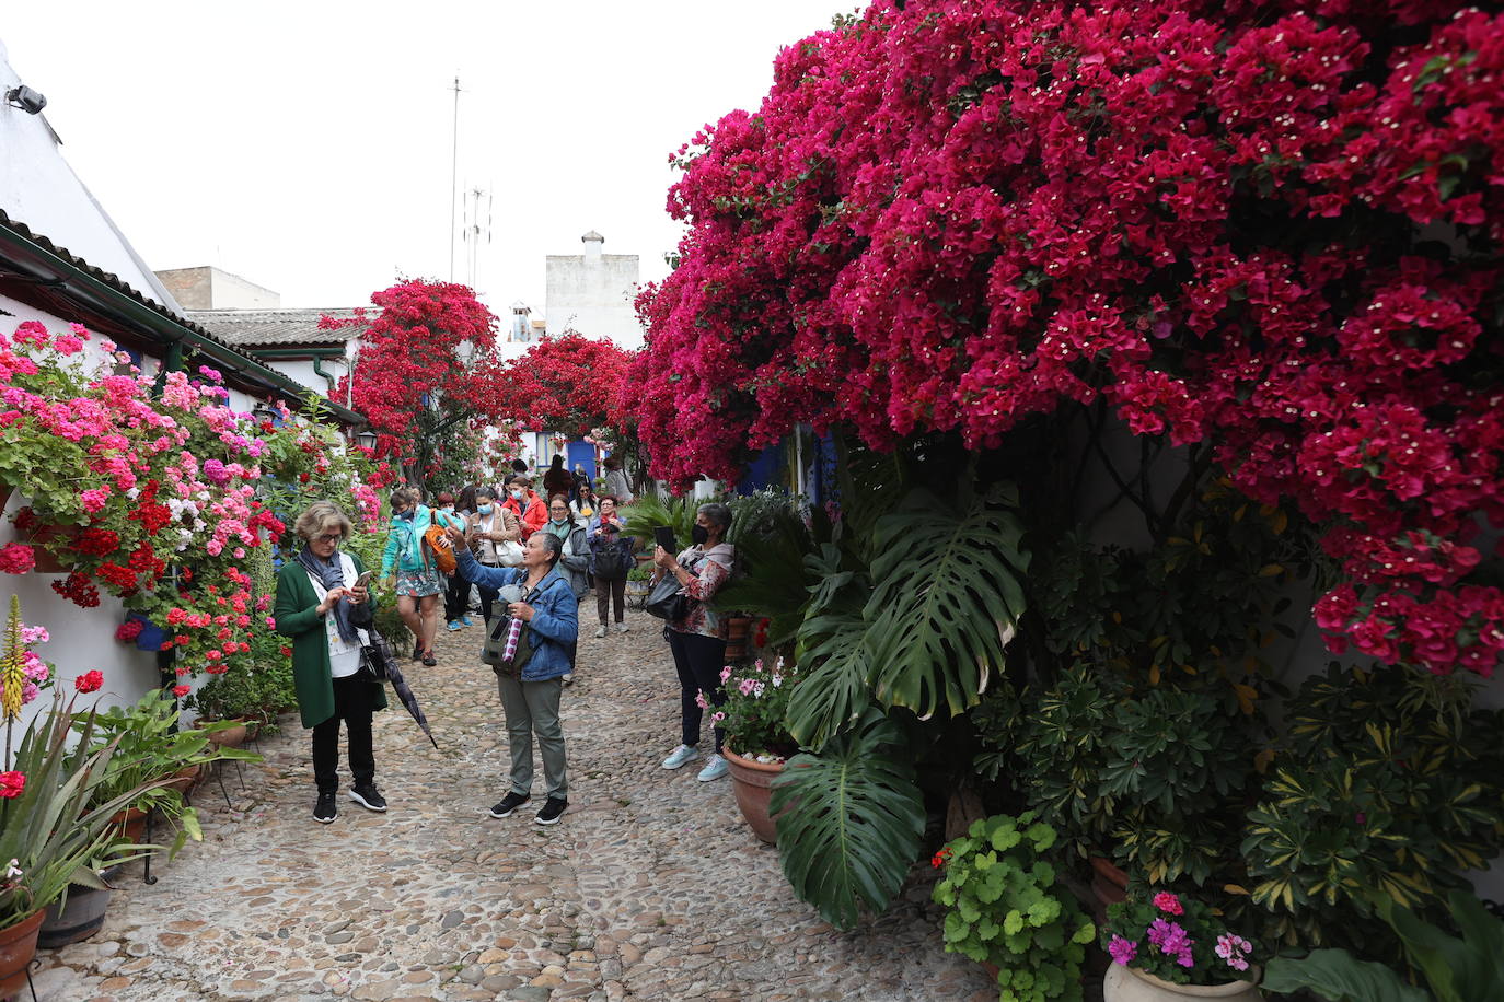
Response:
MULTIPOLYGON (((526 590, 525 602, 511 602, 507 614, 528 623, 534 650, 522 678, 498 675, 501 706, 507 714, 507 742, 511 748, 511 790, 490 808, 492 817, 507 817, 532 795, 532 735, 538 736, 543 781, 547 799, 534 820, 553 825, 569 807, 569 781, 564 774, 564 729, 559 726, 559 693, 579 637, 579 599, 569 577, 558 566, 564 541, 552 532, 535 532, 523 545, 520 568, 489 568, 469 551, 465 533, 450 530, 457 574, 483 587, 517 584, 526 590)), ((498 619, 498 626, 505 619, 498 619)))

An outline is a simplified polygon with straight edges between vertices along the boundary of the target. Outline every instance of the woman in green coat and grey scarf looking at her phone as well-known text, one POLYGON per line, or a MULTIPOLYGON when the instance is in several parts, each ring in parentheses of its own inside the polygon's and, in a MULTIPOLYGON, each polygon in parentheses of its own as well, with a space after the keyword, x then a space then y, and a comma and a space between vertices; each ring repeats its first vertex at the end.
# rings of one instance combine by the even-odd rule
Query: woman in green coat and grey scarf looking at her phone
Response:
POLYGON ((370 811, 385 811, 376 789, 371 751, 371 712, 387 709, 381 682, 361 672, 361 629, 350 622, 352 607, 368 599, 359 577, 359 557, 341 553, 350 520, 332 502, 314 502, 298 517, 293 532, 302 539, 296 557, 277 574, 277 632, 292 638, 292 673, 302 726, 313 729, 313 778, 319 799, 313 819, 328 825, 338 816, 340 721, 349 736, 350 799, 370 811))

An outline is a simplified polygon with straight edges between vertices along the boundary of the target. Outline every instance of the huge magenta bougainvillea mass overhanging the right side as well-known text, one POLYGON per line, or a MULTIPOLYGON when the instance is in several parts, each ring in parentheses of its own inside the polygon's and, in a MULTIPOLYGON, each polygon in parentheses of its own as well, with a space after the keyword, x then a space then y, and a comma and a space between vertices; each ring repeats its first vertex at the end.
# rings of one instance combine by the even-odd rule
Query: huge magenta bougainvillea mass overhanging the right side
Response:
POLYGON ((1504 593, 1504 15, 913 0, 680 150, 627 385, 654 472, 1105 400, 1295 502, 1334 649, 1489 675, 1504 593))

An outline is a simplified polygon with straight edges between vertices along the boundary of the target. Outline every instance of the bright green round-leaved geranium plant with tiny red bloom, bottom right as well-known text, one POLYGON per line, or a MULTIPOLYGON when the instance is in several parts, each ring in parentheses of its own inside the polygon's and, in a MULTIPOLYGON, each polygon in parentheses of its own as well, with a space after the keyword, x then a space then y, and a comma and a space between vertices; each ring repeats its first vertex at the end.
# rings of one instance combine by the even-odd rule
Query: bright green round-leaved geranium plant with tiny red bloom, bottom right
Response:
POLYGON ((1081 997, 1081 963, 1096 927, 1056 882, 1054 829, 1033 811, 972 823, 931 861, 943 870, 945 948, 990 970, 1002 997, 1081 997))

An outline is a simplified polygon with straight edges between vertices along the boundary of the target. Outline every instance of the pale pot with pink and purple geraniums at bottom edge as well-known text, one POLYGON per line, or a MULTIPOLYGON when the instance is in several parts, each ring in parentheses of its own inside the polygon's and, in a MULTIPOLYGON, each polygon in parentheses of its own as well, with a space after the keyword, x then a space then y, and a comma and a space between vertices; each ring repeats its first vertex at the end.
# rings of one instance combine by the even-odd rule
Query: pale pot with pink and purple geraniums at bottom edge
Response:
POLYGON ((1248 960, 1253 943, 1184 894, 1130 885, 1128 898, 1107 907, 1101 945, 1113 958, 1102 982, 1105 1002, 1262 997, 1248 960))

